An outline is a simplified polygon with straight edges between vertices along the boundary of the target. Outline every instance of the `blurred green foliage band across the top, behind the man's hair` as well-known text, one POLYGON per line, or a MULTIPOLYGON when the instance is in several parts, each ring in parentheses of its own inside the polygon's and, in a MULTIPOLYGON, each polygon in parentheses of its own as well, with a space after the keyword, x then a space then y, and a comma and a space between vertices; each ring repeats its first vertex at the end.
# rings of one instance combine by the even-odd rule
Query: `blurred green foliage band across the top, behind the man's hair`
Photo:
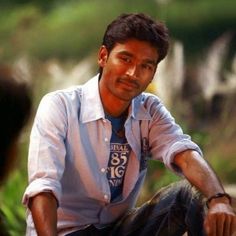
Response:
POLYGON ((81 59, 97 49, 106 25, 123 12, 145 12, 165 21, 171 36, 184 42, 187 55, 236 28, 234 0, 24 2, 0 9, 1 60, 24 53, 43 60, 52 55, 81 59))

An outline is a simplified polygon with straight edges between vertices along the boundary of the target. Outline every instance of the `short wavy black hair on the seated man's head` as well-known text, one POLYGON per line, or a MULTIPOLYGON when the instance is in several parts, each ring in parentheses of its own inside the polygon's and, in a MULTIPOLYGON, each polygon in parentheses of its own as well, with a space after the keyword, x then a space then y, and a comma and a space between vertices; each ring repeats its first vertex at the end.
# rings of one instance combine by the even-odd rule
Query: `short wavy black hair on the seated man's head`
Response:
POLYGON ((110 52, 116 43, 128 39, 149 42, 157 49, 158 62, 165 58, 169 48, 169 33, 164 23, 143 13, 122 14, 112 21, 105 31, 102 45, 110 52))

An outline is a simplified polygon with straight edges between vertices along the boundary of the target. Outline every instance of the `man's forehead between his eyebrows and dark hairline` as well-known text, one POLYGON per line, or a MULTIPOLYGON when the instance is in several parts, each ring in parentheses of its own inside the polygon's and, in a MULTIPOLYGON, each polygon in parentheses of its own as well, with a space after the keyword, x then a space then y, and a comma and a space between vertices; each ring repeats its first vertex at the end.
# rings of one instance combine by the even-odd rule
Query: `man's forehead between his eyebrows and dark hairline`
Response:
POLYGON ((137 39, 129 39, 122 43, 116 43, 111 54, 130 54, 133 57, 148 58, 157 61, 157 49, 149 42, 137 39))

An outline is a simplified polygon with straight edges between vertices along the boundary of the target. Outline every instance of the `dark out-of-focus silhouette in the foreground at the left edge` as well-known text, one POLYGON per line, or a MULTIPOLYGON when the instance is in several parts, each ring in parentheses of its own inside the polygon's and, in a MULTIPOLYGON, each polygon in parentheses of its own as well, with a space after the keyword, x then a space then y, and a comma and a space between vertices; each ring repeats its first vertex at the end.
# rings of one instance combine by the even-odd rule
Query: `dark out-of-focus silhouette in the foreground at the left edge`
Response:
MULTIPOLYGON (((0 65, 0 184, 4 184, 17 158, 17 142, 31 112, 29 87, 0 65)), ((0 234, 9 235, 0 210, 0 234)))

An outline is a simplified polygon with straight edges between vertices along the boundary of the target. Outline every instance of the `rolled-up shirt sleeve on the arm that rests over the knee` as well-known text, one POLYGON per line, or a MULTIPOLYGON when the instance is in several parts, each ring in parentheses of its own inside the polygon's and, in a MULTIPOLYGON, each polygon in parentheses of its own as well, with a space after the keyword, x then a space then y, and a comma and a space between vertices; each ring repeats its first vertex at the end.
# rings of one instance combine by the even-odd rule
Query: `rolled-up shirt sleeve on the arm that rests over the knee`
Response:
POLYGON ((174 157, 186 150, 195 150, 202 156, 202 151, 189 135, 183 133, 181 127, 176 124, 170 112, 160 101, 154 104, 153 119, 149 127, 151 154, 154 159, 162 161, 176 174, 181 174, 173 165, 174 157))

